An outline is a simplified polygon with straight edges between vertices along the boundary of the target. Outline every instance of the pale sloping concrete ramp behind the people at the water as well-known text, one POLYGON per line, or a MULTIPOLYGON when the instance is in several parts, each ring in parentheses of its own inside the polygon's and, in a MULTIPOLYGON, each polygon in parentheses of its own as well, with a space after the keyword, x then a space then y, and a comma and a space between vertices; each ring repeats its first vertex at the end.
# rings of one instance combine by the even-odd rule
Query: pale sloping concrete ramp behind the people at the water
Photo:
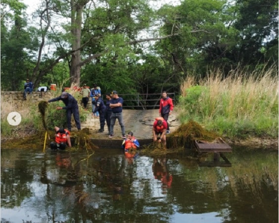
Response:
MULTIPOLYGON (((170 131, 175 131, 179 126, 180 123, 176 117, 176 111, 172 112, 173 114, 169 117, 169 124, 170 124, 170 131)), ((155 121, 155 118, 159 117, 159 109, 154 110, 123 110, 123 118, 125 123, 125 132, 126 134, 129 131, 132 131, 134 135, 138 139, 146 139, 152 138, 152 125, 155 121)), ((98 118, 92 118, 92 115, 88 115, 88 119, 85 123, 81 125, 83 128, 89 128, 93 134, 98 131, 100 128, 100 123, 98 118)), ((74 129, 74 128, 73 128, 74 129)), ((107 137, 107 126, 105 124, 105 132, 98 133, 99 138, 107 137)), ((114 138, 121 138, 121 128, 116 121, 114 126, 114 138)))

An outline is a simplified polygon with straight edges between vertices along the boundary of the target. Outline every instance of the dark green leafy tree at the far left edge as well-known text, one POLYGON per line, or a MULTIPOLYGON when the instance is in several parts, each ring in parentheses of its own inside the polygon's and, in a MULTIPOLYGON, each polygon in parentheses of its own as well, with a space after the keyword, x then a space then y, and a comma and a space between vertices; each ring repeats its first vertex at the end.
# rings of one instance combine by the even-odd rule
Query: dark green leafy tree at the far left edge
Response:
POLYGON ((23 89, 21 77, 26 74, 26 61, 30 59, 24 48, 31 41, 26 29, 26 5, 17 0, 4 0, 1 6, 1 88, 23 89))

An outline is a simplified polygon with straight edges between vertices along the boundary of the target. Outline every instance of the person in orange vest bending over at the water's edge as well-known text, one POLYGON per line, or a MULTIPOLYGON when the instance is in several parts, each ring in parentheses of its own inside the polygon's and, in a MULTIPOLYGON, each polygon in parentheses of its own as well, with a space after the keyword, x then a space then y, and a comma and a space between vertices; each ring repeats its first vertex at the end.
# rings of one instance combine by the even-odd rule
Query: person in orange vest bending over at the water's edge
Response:
POLYGON ((167 132, 168 124, 166 120, 164 120, 163 117, 159 117, 155 119, 155 122, 153 123, 152 133, 153 133, 153 141, 163 142, 163 144, 166 146, 166 132, 167 132), (157 140, 158 136, 160 135, 160 138, 157 140))

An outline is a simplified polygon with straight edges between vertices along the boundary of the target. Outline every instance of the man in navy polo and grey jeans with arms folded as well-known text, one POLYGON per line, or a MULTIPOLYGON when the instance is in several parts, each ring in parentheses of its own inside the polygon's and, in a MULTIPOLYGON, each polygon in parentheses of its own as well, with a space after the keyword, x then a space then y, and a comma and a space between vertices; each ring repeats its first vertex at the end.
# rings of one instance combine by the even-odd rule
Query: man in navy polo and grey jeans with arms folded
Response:
POLYGON ((111 92, 112 99, 110 100, 109 107, 112 109, 112 113, 110 116, 110 134, 109 138, 113 137, 113 127, 115 125, 116 119, 118 119, 119 125, 121 126, 121 132, 122 132, 122 138, 126 138, 125 136, 125 126, 123 121, 123 115, 122 115, 122 105, 123 105, 123 98, 118 96, 118 93, 116 90, 113 90, 111 92))

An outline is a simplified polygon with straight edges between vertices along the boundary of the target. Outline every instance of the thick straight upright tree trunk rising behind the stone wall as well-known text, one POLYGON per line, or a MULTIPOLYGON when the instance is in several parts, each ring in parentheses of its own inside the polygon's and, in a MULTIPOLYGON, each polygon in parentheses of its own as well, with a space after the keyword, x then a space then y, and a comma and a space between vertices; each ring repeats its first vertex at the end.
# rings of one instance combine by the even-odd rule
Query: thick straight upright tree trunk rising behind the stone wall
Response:
POLYGON ((77 50, 81 46, 81 29, 82 29, 82 10, 84 7, 84 2, 79 3, 79 1, 71 0, 71 33, 73 37, 72 43, 72 55, 71 55, 71 67, 70 67, 70 77, 71 84, 80 84, 81 75, 81 53, 77 50))

